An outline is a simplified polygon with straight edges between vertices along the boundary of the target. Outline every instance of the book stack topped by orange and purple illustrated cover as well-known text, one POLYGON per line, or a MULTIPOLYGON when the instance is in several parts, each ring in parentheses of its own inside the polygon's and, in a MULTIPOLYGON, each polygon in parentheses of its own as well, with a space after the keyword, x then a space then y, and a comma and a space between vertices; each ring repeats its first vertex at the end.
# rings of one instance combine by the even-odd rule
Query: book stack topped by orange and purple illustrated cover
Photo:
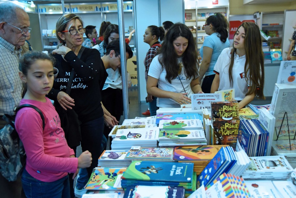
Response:
POLYGON ((223 146, 226 145, 175 146, 174 161, 193 163, 193 170, 199 175, 223 146))

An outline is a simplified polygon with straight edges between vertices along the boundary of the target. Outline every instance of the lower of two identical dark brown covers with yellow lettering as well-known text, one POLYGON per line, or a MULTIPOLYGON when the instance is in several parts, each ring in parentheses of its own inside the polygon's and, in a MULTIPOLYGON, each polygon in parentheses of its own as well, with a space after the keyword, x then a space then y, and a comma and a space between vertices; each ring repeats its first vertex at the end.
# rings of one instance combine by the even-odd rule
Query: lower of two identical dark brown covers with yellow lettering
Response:
POLYGON ((216 119, 212 124, 214 128, 211 134, 213 145, 229 145, 235 149, 240 120, 216 119))

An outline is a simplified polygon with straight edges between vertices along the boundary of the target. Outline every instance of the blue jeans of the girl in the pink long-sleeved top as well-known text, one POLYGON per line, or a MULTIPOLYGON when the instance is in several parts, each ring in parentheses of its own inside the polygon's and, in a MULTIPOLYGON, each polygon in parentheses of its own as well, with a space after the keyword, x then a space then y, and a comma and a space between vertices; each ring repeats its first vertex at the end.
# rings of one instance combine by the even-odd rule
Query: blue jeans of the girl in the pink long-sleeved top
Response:
POLYGON ((21 183, 27 198, 70 198, 68 175, 57 181, 45 182, 35 179, 24 169, 21 183))

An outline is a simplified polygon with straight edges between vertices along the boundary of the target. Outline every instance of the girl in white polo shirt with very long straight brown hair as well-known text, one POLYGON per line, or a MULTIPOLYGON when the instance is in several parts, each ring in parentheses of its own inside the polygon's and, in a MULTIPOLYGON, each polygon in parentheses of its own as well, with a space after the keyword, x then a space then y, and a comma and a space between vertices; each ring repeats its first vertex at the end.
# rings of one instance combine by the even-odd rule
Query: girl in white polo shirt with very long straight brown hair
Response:
POLYGON ((216 73, 211 87, 215 91, 234 89, 239 109, 249 104, 256 96, 265 99, 264 55, 258 25, 243 22, 237 29, 233 46, 225 48, 214 67, 216 73))

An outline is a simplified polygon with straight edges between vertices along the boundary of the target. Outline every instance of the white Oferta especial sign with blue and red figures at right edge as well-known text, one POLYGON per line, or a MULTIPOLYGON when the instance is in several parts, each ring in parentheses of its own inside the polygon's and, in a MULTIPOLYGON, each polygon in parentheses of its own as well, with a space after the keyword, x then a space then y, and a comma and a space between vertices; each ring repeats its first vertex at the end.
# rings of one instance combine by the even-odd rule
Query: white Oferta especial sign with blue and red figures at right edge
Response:
POLYGON ((295 83, 296 61, 281 61, 276 83, 295 83))

